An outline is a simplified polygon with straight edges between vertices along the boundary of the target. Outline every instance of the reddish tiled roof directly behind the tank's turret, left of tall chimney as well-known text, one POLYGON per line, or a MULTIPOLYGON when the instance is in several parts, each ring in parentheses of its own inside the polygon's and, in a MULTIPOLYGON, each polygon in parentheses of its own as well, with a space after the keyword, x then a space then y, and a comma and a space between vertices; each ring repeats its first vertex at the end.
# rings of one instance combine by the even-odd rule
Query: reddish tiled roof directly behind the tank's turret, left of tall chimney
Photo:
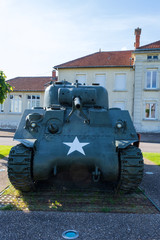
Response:
POLYGON ((96 52, 73 61, 55 66, 58 68, 88 68, 88 67, 131 67, 133 65, 132 50, 96 52))

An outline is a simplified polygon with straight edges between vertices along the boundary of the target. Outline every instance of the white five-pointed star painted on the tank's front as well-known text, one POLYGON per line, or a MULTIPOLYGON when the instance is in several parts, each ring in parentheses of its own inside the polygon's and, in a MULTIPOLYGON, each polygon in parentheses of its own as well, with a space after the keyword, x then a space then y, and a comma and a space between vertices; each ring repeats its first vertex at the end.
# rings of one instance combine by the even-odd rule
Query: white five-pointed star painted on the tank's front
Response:
POLYGON ((67 155, 71 154, 74 151, 78 151, 78 152, 82 153, 83 155, 85 155, 83 147, 88 145, 88 144, 90 144, 90 143, 80 143, 78 138, 75 137, 73 142, 69 142, 69 143, 68 142, 63 142, 63 144, 65 144, 65 145, 70 147, 67 155))

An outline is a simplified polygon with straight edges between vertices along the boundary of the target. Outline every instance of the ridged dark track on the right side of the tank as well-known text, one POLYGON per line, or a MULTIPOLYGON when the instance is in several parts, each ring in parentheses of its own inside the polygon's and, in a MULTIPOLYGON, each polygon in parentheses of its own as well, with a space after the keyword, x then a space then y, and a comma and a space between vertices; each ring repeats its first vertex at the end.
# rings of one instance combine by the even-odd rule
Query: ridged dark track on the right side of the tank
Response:
POLYGON ((120 178, 117 190, 135 191, 143 178, 143 156, 141 150, 129 146, 119 151, 120 178))

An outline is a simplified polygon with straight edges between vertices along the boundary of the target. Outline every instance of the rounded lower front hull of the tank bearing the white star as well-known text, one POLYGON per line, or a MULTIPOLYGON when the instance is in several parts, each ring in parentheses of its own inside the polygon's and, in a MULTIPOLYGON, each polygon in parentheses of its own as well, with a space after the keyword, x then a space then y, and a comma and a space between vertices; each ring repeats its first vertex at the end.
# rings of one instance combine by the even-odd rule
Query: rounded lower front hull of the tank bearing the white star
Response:
POLYGON ((72 166, 76 163, 98 167, 105 180, 116 181, 119 161, 114 139, 110 136, 82 135, 43 139, 36 143, 34 179, 48 179, 55 166, 72 166))

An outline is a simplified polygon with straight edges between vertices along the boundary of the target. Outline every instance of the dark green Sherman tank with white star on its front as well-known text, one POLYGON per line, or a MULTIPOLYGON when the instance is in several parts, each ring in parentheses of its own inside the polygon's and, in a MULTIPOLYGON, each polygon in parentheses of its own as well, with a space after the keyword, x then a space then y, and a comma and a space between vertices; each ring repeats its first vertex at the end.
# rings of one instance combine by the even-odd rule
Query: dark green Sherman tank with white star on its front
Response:
POLYGON ((26 109, 9 154, 8 176, 15 188, 30 191, 61 169, 75 176, 85 166, 93 182, 112 182, 134 191, 143 176, 139 138, 128 111, 109 108, 107 90, 76 81, 50 83, 44 107, 26 109))

